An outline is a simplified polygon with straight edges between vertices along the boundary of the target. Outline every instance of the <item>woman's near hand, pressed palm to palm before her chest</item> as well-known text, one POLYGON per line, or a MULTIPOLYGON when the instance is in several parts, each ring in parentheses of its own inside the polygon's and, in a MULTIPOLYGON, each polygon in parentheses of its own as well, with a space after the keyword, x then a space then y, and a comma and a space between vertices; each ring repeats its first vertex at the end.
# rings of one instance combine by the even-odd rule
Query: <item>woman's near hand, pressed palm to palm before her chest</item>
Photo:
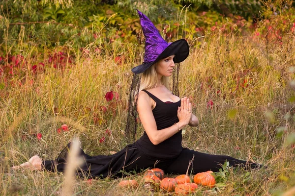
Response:
MULTIPOLYGON (((189 102, 189 98, 181 98, 181 104, 180 107, 178 107, 177 110, 177 117, 179 120, 179 123, 182 125, 181 128, 186 126, 192 117, 192 104, 189 102)), ((181 126, 179 124, 179 126, 181 126)))

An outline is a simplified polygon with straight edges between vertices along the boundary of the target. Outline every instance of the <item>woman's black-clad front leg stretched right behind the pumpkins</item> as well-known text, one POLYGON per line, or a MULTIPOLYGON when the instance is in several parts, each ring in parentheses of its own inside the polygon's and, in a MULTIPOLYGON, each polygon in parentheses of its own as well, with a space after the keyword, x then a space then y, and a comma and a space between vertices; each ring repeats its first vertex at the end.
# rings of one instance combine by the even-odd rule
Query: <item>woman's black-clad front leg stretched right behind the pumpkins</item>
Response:
POLYGON ((199 173, 211 170, 213 172, 218 172, 225 161, 230 163, 230 166, 243 166, 247 168, 258 168, 260 165, 255 163, 248 163, 247 161, 239 160, 231 156, 226 155, 213 155, 198 152, 195 150, 190 150, 188 148, 183 148, 180 155, 172 162, 172 164, 167 168, 167 172, 184 174, 186 173, 190 161, 192 162, 188 173, 199 173))

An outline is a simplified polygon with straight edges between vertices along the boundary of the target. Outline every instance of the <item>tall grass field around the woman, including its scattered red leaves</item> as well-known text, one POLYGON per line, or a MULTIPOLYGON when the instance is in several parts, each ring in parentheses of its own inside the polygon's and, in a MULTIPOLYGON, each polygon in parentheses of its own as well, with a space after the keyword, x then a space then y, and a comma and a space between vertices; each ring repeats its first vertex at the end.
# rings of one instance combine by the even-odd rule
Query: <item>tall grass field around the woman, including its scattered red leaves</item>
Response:
MULTIPOLYGON (((200 125, 183 129, 182 146, 267 167, 225 164, 214 173, 214 188, 200 186, 190 195, 295 196, 294 11, 271 15, 253 31, 238 28, 225 22, 188 39, 179 97, 190 98, 200 125)), ((21 52, 14 59, 8 46, 7 55, 0 53, 0 195, 67 195, 64 173, 11 167, 33 155, 54 159, 74 138, 89 155, 110 155, 132 143, 124 134, 131 68, 142 62, 144 44, 100 40, 99 47, 39 49, 22 39, 15 41, 21 52)), ((139 123, 137 139, 143 131, 139 123)), ((71 195, 173 195, 145 186, 143 173, 126 176, 75 177, 71 195), (120 188, 122 179, 139 187, 120 188)))

